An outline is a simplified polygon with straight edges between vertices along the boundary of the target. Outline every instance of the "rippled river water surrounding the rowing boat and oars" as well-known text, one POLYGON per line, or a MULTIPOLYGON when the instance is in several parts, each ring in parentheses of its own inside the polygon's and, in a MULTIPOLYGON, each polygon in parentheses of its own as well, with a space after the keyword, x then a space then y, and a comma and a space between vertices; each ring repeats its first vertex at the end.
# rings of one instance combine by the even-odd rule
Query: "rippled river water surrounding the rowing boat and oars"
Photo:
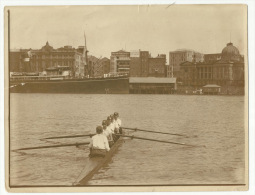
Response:
MULTIPOLYGON (((90 185, 244 183, 243 96, 11 94, 10 102, 11 150, 89 141, 41 139, 94 133, 116 111, 125 127, 189 137, 133 132, 135 136, 206 146, 126 139, 90 185)), ((76 147, 11 151, 10 184, 72 185, 87 158, 88 149, 76 147)))

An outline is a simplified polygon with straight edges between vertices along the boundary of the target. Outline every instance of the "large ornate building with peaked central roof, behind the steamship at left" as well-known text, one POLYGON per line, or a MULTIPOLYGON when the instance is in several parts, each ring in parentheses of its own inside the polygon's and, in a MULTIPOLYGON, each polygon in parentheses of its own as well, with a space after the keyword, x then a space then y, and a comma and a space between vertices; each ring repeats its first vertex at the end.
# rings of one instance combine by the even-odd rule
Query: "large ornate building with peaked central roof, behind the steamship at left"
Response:
POLYGON ((10 52, 11 72, 43 72, 46 68, 58 66, 70 67, 73 77, 84 77, 83 54, 72 46, 54 49, 47 41, 41 49, 10 52))

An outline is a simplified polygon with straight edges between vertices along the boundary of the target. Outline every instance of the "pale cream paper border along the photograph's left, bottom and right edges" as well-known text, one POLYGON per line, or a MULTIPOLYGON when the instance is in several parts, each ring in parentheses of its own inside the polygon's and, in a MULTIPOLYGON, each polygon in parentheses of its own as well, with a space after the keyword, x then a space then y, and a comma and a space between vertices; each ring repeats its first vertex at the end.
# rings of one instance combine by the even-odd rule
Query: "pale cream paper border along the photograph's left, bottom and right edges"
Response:
MULTIPOLYGON (((245 2, 244 2, 245 3, 245 2)), ((61 5, 60 5, 61 6, 61 5)), ((248 8, 249 10, 249 5, 248 8)), ((6 12, 6 7, 5 7, 5 11, 6 12)), ((249 11, 248 11, 249 12, 249 11)), ((247 12, 247 14, 248 14, 247 12)), ((4 55, 5 55, 5 64, 8 64, 8 59, 9 56, 6 56, 6 51, 8 51, 8 44, 6 44, 6 35, 8 35, 8 28, 6 29, 6 14, 4 15, 4 19, 5 19, 5 28, 4 28, 4 32, 5 32, 5 44, 4 44, 4 55), (6 50, 7 49, 7 50, 6 50)), ((248 25, 247 25, 248 27, 248 25)), ((248 34, 248 31, 247 31, 248 34)), ((250 35, 250 33, 249 33, 250 35)), ((247 42, 248 40, 246 40, 246 44, 247 44, 247 49, 250 46, 250 44, 247 42)), ((247 56, 248 52, 246 50, 246 52, 244 52, 244 55, 247 56)), ((248 56, 248 58, 250 59, 250 55, 248 56)), ((249 60, 250 62, 250 60, 249 60)), ((248 72, 248 66, 250 69, 251 64, 249 63, 248 65, 248 59, 245 58, 245 83, 248 83, 249 80, 249 74, 250 72, 248 72)), ((9 96, 9 69, 8 67, 4 67, 4 72, 5 72, 5 82, 4 82, 4 95, 5 95, 5 112, 4 112, 4 118, 5 118, 5 165, 9 166, 9 158, 10 158, 10 148, 9 148, 9 142, 10 142, 10 137, 9 137, 9 122, 7 124, 6 121, 9 121, 8 119, 10 118, 10 96, 9 96), (6 82, 7 81, 7 82, 6 82), (6 105, 8 105, 8 109, 6 111, 6 105), (8 146, 8 148, 6 148, 6 145, 8 146)), ((8 182, 6 182, 6 190, 8 192, 141 192, 141 191, 158 191, 158 192, 165 192, 165 191, 172 191, 172 192, 177 192, 177 191, 239 191, 239 190, 248 190, 248 180, 249 180, 249 158, 248 158, 248 154, 249 154, 249 134, 250 132, 248 131, 248 113, 249 113, 249 105, 248 105, 248 95, 249 95, 249 85, 245 85, 245 183, 247 184, 245 187, 240 187, 240 186, 134 186, 134 187, 117 187, 114 186, 114 189, 110 189, 113 188, 112 186, 110 187, 100 187, 100 189, 98 189, 98 187, 94 187, 94 186, 88 186, 88 187, 63 187, 63 186, 59 186, 61 188, 64 189, 59 189, 59 187, 28 187, 28 188, 20 188, 20 187, 9 187, 9 179, 8 182), (134 189, 135 188, 135 189, 134 189), (216 188, 216 189, 215 189, 216 188)), ((254 93, 254 92, 253 92, 254 93)), ((251 137, 250 137, 251 139, 251 137)), ((6 170, 5 170, 6 171, 6 170)), ((8 177, 9 178, 9 171, 5 172, 5 179, 8 177)), ((6 180, 7 181, 7 180, 6 180)), ((101 185, 100 185, 101 186, 101 185)), ((119 185, 118 185, 119 186, 119 185)))

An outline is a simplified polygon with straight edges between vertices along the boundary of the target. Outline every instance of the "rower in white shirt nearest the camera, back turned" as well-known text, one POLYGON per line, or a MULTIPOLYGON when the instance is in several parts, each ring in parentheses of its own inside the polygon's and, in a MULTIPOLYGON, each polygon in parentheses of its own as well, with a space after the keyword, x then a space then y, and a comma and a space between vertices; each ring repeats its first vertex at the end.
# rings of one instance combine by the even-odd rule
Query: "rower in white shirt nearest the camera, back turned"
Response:
POLYGON ((108 140, 103 135, 103 128, 101 126, 97 126, 96 133, 89 144, 90 157, 105 156, 106 152, 110 150, 108 140))

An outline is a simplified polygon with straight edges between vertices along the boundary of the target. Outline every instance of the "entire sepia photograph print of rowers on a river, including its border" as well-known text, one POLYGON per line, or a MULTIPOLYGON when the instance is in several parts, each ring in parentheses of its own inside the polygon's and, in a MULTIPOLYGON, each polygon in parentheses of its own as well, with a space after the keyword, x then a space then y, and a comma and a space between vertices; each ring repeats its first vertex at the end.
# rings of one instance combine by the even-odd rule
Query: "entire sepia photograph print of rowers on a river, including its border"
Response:
POLYGON ((10 190, 248 189, 246 5, 10 6, 5 31, 10 190))

